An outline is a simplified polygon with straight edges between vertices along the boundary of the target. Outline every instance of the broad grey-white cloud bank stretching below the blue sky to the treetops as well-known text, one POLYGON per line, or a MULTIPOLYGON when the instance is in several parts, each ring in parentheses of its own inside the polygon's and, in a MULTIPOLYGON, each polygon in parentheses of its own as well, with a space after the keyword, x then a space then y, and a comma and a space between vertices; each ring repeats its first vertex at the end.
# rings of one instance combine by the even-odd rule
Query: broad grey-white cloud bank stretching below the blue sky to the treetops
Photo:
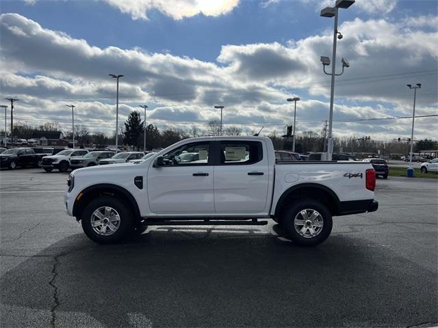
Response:
MULTIPOLYGON (((344 38, 338 55, 347 57, 351 67, 337 78, 335 120, 410 115, 412 94, 405 84, 417 82, 423 83, 418 115, 437 113, 438 33, 411 30, 406 24, 357 18, 339 27, 344 38)), ((120 120, 146 102, 151 107, 148 122, 207 124, 219 115, 213 105, 222 103, 224 124, 246 129, 266 125, 263 131, 269 132, 291 120, 292 107, 284 102, 288 96, 302 98, 299 131, 318 128, 327 119, 330 83, 319 57, 331 53, 329 31, 287 45, 223 46, 218 63, 141 49, 101 49, 18 14, 0 16, 0 33, 1 96, 21 98, 16 116, 32 124, 55 118, 68 128, 65 104, 75 100, 78 124, 82 120, 91 129, 111 131, 115 83, 108 73, 125 75, 120 80, 120 120)), ((387 139, 400 131, 407 135, 408 121, 337 122, 335 131, 387 139)), ((416 121, 418 137, 435 137, 436 121, 416 121)))

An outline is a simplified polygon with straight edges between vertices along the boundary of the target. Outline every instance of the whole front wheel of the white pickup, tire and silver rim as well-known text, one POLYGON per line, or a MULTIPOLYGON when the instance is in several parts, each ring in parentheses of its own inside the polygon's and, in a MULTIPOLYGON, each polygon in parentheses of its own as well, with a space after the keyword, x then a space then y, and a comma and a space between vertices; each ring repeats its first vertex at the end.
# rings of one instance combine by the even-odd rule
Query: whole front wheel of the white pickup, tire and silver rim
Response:
POLYGON ((116 243, 133 232, 130 208, 112 196, 92 200, 81 215, 83 232, 101 244, 116 243))

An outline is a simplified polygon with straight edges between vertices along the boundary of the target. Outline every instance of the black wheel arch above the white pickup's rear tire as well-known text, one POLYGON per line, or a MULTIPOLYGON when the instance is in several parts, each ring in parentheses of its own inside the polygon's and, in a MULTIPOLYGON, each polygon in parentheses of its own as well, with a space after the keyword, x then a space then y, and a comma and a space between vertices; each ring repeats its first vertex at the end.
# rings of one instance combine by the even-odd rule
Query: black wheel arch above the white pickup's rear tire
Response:
POLYGON ((324 203, 329 208, 331 215, 337 215, 339 212, 339 197, 333 190, 322 184, 308 182, 296 184, 280 196, 275 206, 274 217, 279 217, 287 204, 300 198, 309 198, 324 203))

